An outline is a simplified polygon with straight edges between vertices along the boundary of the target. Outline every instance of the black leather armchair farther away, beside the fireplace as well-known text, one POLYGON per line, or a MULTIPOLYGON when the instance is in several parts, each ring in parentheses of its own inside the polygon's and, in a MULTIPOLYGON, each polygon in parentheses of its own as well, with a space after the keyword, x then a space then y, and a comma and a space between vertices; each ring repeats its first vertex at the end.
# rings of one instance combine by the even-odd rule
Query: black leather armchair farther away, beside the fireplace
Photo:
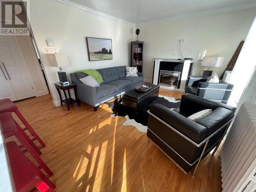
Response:
POLYGON ((185 93, 227 104, 233 84, 222 80, 219 83, 206 82, 207 78, 207 76, 188 76, 185 93))

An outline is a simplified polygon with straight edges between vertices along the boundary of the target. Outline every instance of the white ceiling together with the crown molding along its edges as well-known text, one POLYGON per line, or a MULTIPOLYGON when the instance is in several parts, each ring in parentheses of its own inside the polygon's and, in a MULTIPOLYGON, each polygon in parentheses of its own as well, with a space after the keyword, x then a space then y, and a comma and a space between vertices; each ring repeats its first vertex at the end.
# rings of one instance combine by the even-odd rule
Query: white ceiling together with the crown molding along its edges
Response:
POLYGON ((255 0, 50 0, 130 25, 172 20, 256 7, 255 0))

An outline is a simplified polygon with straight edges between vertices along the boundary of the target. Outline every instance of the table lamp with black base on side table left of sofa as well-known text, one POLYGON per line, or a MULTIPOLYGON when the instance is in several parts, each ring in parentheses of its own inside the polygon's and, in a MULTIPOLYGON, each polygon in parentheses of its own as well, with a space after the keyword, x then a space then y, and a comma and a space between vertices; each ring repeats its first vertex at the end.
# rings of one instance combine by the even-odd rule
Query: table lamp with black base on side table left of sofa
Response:
POLYGON ((68 86, 69 81, 65 71, 62 71, 62 67, 69 66, 68 56, 65 53, 58 54, 47 54, 50 65, 53 67, 59 67, 58 76, 59 83, 62 86, 68 86))

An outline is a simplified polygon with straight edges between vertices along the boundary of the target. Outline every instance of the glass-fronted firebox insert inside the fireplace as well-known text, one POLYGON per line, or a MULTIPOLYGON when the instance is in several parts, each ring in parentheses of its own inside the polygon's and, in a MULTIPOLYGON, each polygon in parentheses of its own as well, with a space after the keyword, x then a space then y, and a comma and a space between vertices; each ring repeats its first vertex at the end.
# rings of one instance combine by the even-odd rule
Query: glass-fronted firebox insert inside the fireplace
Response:
POLYGON ((180 72, 160 70, 159 85, 179 89, 180 72))

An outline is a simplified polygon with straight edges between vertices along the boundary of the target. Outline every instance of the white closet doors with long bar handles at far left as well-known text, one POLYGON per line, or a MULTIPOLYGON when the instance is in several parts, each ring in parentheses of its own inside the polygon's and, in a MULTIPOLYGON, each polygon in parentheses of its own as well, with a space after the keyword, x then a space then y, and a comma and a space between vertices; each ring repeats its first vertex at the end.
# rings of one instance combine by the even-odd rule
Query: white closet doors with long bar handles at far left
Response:
POLYGON ((33 83, 13 36, 0 36, 0 97, 12 101, 35 96, 33 83))

